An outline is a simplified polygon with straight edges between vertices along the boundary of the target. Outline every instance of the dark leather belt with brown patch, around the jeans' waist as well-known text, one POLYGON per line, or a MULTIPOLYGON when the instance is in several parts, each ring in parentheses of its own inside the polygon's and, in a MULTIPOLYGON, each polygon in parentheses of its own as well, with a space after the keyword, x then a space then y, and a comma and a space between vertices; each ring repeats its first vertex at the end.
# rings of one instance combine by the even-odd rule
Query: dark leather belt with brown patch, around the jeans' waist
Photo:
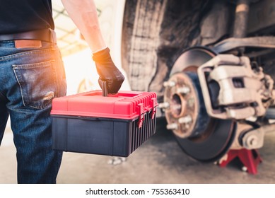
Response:
POLYGON ((54 30, 45 29, 45 30, 33 30, 24 33, 15 33, 15 34, 0 34, 0 41, 3 40, 42 40, 46 42, 57 42, 57 37, 54 30))

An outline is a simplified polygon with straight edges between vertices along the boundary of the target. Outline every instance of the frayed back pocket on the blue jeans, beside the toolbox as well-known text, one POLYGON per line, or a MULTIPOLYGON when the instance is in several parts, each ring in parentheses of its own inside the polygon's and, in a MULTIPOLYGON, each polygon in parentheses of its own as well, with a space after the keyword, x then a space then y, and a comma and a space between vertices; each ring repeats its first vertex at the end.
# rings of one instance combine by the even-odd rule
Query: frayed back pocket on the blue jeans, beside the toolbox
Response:
POLYGON ((42 109, 52 103, 58 93, 57 72, 53 63, 13 64, 24 106, 42 109))

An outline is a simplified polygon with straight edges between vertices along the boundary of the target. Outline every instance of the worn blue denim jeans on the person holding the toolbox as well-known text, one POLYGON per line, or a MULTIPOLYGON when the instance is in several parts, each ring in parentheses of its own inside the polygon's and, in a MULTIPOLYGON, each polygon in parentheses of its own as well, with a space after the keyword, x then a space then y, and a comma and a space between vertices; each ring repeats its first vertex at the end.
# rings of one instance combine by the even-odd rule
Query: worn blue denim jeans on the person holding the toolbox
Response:
POLYGON ((0 144, 10 116, 18 183, 56 183, 62 152, 52 150, 50 110, 52 99, 64 95, 56 45, 18 49, 14 41, 0 41, 0 144))

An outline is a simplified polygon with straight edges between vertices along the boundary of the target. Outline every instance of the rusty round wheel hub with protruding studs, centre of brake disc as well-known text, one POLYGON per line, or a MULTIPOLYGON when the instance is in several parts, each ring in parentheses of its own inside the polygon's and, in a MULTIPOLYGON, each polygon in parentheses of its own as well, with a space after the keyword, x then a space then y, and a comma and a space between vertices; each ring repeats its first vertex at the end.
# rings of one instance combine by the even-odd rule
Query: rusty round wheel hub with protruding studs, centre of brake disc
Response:
POLYGON ((164 100, 169 103, 165 117, 168 128, 180 138, 199 136, 209 117, 201 97, 197 74, 180 72, 170 77, 164 100))

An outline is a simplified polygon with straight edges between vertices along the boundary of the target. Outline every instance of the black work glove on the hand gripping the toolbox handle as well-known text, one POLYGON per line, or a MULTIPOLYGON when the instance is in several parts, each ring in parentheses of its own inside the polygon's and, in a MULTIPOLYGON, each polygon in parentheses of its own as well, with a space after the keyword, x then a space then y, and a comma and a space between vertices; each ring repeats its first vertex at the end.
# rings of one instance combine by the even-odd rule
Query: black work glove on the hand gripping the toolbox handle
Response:
POLYGON ((107 47, 105 50, 93 54, 96 70, 98 71, 98 83, 100 88, 103 89, 103 81, 107 83, 108 93, 117 93, 124 81, 123 74, 117 69, 110 56, 110 49, 107 47))

